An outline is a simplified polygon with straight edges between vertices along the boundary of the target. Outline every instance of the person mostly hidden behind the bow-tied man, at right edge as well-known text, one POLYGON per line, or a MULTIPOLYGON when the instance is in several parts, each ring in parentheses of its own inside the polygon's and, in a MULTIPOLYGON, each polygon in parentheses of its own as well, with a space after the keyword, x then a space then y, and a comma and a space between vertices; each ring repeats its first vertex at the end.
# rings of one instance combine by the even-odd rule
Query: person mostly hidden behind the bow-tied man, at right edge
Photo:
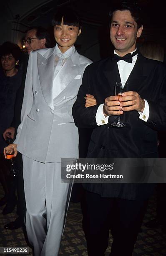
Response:
MULTIPOLYGON (((154 59, 156 61, 164 61, 164 48, 161 44, 146 41, 144 42, 139 51, 141 54, 148 58, 154 59)), ((166 132, 158 133, 158 153, 159 157, 166 158, 165 153, 166 145, 166 132)), ((156 218, 145 223, 147 228, 157 228, 161 225, 161 228, 164 233, 166 233, 166 184, 160 183, 156 187, 156 218)))

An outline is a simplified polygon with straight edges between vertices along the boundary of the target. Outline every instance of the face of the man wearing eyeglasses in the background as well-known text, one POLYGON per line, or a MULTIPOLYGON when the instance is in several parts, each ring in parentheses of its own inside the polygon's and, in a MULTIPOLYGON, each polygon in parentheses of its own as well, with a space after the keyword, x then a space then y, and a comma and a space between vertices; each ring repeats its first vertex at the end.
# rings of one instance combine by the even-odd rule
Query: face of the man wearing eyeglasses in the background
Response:
POLYGON ((30 54, 31 51, 45 48, 45 43, 43 43, 43 40, 45 39, 36 38, 36 29, 29 30, 25 35, 25 47, 28 51, 28 54, 30 54), (28 44, 26 41, 28 38, 32 39, 30 44, 28 44))

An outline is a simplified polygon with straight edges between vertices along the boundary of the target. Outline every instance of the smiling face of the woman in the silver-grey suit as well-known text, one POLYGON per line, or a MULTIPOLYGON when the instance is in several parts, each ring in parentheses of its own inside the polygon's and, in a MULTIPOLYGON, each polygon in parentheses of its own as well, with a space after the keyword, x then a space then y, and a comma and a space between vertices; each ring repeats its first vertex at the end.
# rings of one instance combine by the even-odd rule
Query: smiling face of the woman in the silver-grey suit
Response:
POLYGON ((80 33, 81 30, 78 27, 63 25, 63 20, 60 26, 56 25, 54 27, 54 37, 60 51, 64 53, 70 49, 75 44, 80 33))

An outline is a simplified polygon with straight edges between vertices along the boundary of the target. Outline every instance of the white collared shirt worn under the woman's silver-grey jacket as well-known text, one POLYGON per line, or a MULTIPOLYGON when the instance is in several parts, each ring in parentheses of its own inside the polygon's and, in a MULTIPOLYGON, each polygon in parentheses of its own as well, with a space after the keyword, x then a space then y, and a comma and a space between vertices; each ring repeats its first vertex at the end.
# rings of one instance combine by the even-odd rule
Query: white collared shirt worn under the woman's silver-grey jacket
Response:
POLYGON ((54 80, 53 80, 53 98, 60 94, 63 90, 63 84, 60 83, 58 73, 60 69, 65 65, 66 60, 73 54, 75 51, 75 46, 72 46, 70 49, 62 53, 58 48, 58 45, 55 46, 55 64, 54 64, 54 80))

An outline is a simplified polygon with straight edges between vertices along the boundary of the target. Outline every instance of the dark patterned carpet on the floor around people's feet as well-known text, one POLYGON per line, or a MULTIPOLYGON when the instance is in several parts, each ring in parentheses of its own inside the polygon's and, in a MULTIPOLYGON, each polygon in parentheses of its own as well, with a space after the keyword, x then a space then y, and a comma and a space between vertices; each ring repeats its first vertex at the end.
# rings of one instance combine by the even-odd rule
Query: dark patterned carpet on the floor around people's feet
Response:
MULTIPOLYGON (((3 197, 3 190, 0 187, 0 198, 3 197)), ((155 216, 155 200, 151 198, 143 223, 155 216)), ((22 228, 17 230, 5 230, 3 226, 16 218, 15 210, 2 215, 3 207, 0 207, 0 247, 27 247, 22 228)), ((86 251, 86 240, 82 230, 82 215, 79 203, 70 203, 68 210, 65 232, 60 247, 60 255, 63 256, 88 256, 86 251)), ((106 252, 109 255, 112 243, 110 234, 110 244, 106 252)), ((0 255, 20 255, 20 254, 0 254, 0 255)), ((29 248, 29 254, 32 256, 32 249, 29 248)), ((163 234, 161 228, 150 230, 142 225, 142 232, 139 233, 133 256, 164 256, 166 255, 166 234, 163 234)), ((95 256, 95 255, 94 255, 95 256)))

